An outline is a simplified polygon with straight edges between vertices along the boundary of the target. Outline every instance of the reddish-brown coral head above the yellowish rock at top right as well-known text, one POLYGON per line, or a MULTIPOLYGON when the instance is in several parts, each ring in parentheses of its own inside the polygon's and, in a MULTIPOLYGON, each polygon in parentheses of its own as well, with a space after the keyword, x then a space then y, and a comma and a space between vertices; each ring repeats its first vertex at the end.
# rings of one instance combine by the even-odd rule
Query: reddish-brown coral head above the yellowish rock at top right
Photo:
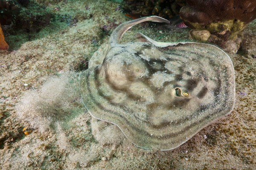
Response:
POLYGON ((256 18, 255 0, 187 0, 180 17, 189 23, 206 26, 224 20, 249 23, 256 18))

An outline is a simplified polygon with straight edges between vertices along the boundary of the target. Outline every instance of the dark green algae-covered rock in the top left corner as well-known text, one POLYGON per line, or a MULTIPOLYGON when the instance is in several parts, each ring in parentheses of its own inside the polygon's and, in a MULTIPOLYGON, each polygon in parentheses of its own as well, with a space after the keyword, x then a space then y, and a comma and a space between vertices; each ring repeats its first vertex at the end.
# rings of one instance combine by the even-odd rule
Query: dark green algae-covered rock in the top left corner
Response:
POLYGON ((52 11, 34 0, 3 0, 0 3, 0 23, 13 28, 13 32, 24 29, 26 32, 39 31, 47 26, 52 11))

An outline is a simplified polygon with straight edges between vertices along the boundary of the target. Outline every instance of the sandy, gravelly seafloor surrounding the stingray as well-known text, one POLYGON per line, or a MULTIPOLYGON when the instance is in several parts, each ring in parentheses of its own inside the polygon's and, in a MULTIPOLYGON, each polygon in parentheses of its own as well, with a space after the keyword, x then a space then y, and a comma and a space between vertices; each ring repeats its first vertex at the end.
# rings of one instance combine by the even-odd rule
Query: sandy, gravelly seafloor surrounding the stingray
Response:
MULTIPOLYGON (((234 110, 180 147, 143 150, 115 125, 92 118, 78 89, 90 57, 130 18, 111 1, 37 2, 53 19, 32 33, 10 33, 9 50, 0 51, 0 169, 256 169, 256 20, 244 30, 244 52, 229 54, 234 110)), ((186 41, 189 30, 142 23, 122 40, 140 31, 157 41, 186 41)))

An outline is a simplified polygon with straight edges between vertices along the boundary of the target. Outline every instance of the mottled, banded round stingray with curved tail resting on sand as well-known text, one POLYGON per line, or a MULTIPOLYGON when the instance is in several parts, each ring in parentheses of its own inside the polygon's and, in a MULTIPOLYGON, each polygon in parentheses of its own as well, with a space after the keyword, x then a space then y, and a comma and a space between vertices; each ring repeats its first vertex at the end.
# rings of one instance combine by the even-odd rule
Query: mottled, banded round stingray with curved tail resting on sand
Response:
POLYGON ((220 48, 196 42, 157 42, 122 35, 145 21, 119 25, 101 56, 79 77, 81 97, 91 116, 113 123, 136 146, 171 150, 229 114, 235 103, 230 57, 220 48))

